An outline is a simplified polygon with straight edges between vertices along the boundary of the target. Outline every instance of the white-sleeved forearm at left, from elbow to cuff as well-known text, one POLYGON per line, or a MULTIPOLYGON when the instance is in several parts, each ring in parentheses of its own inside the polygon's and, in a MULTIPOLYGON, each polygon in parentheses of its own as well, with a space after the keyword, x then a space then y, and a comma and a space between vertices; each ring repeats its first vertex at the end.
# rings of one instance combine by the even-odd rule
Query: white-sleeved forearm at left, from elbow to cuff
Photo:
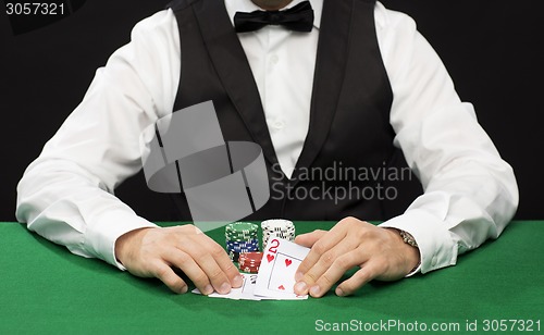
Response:
POLYGON ((16 218, 73 253, 116 266, 116 238, 132 229, 154 226, 110 194, 97 177, 59 160, 38 160, 28 167, 17 187, 16 218))

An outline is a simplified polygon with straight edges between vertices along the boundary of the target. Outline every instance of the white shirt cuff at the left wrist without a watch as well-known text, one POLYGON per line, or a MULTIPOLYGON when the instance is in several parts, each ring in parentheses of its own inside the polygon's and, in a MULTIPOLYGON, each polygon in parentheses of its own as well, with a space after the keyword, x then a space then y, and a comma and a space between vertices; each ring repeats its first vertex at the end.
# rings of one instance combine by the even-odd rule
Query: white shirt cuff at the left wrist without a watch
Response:
POLYGON ((115 258, 115 241, 123 234, 145 227, 157 227, 157 225, 135 213, 123 210, 107 211, 88 227, 85 234, 86 249, 124 271, 126 268, 115 258))

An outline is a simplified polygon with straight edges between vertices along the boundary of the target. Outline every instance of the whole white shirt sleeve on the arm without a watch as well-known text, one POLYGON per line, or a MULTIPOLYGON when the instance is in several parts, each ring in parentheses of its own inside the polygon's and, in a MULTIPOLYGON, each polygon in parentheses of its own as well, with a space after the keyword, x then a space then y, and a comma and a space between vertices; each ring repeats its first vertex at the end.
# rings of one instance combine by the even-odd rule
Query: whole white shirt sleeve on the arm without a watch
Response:
POLYGON ((140 135, 172 112, 180 71, 174 14, 162 11, 138 23, 25 171, 17 220, 76 255, 123 269, 114 255, 118 237, 154 225, 113 191, 141 169, 140 135))

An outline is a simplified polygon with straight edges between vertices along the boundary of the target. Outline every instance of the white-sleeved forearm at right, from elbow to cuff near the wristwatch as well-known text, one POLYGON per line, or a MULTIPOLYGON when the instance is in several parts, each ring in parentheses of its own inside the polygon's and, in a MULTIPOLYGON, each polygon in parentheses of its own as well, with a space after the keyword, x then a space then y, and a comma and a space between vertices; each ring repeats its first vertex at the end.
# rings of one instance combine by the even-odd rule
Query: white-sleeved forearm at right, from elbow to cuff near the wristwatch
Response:
POLYGON ((490 175, 473 176, 450 186, 428 189, 405 214, 381 225, 413 235, 421 252, 422 273, 453 265, 458 255, 498 237, 517 209, 512 173, 505 173, 500 179, 490 175), (463 193, 463 184, 485 187, 479 187, 482 194, 463 193))

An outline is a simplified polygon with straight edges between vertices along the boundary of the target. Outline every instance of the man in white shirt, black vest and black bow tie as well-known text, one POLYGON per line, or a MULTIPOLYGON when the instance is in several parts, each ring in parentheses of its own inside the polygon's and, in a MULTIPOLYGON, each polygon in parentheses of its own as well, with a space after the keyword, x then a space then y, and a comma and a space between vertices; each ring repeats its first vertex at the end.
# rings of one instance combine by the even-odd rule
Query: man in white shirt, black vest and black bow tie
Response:
MULTIPOLYGON (((175 1, 139 23, 25 172, 17 219, 74 253, 156 276, 175 293, 187 284, 173 268, 205 294, 238 287, 220 245, 190 225, 157 227, 113 196, 141 167, 138 138, 147 126, 213 100, 225 139, 261 145, 279 189, 344 187, 301 171, 388 166, 397 148, 421 179, 424 194, 380 226, 361 221, 383 216, 380 199, 272 196, 257 214, 339 220, 330 232, 297 237, 311 247, 298 294, 321 297, 360 266, 336 288, 346 296, 374 278, 455 264, 458 253, 496 238, 517 208, 514 173, 413 22, 371 0, 311 0, 314 17, 296 32, 276 12, 257 30, 235 20, 257 10, 302 16, 301 2, 175 1)), ((367 182, 359 186, 384 181, 367 182)))

